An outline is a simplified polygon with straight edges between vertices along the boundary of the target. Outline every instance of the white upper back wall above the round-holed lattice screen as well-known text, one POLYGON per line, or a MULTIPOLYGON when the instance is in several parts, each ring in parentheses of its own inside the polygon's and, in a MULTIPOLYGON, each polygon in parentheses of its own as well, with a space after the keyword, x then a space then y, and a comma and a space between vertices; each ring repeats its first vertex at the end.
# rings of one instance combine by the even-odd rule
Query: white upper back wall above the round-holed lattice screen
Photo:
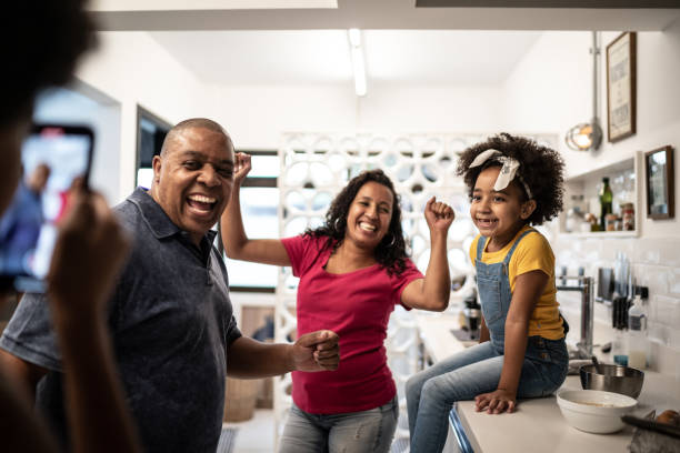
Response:
POLYGON ((498 124, 496 87, 369 88, 357 98, 347 87, 218 88, 213 118, 237 148, 278 149, 290 131, 477 132, 498 124))

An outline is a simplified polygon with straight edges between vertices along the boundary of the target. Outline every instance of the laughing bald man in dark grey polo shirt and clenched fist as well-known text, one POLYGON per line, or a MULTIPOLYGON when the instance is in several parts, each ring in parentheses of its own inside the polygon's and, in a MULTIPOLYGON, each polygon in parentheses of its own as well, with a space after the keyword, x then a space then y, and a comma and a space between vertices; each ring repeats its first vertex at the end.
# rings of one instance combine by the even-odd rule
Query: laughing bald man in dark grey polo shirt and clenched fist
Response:
MULTIPOLYGON (((134 245, 110 301, 109 325, 128 402, 149 452, 217 449, 224 379, 334 370, 338 336, 293 345, 241 336, 210 231, 233 185, 233 145, 213 121, 187 120, 153 159, 149 192, 114 208, 134 245)), ((66 442, 61 356, 47 301, 27 294, 0 339, 0 359, 33 389, 66 442)))

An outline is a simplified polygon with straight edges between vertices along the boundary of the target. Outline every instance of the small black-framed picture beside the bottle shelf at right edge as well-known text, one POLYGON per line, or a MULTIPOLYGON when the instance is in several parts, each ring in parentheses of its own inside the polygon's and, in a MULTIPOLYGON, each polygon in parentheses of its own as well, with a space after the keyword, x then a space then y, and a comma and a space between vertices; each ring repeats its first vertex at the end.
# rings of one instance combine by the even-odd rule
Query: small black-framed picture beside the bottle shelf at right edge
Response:
POLYGON ((647 217, 649 219, 672 219, 674 217, 674 174, 672 147, 666 145, 644 153, 647 217))

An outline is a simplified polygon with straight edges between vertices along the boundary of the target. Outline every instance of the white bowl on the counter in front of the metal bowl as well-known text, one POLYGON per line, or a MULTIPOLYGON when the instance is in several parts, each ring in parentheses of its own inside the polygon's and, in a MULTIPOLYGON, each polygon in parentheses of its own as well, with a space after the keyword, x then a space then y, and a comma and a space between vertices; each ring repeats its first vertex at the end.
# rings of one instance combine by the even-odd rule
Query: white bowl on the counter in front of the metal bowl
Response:
POLYGON ((621 430, 621 415, 629 413, 638 404, 630 396, 601 390, 564 390, 558 393, 557 400, 570 425, 598 434, 621 430))

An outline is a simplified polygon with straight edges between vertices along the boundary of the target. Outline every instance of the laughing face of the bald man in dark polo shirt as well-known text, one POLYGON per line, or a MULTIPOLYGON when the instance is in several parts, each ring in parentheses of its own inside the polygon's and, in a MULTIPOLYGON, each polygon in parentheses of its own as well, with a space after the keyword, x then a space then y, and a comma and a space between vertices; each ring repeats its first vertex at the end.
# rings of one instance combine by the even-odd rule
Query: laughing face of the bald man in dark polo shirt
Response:
POLYGON ((198 244, 217 223, 233 189, 233 145, 219 132, 190 127, 153 158, 151 197, 198 244))

